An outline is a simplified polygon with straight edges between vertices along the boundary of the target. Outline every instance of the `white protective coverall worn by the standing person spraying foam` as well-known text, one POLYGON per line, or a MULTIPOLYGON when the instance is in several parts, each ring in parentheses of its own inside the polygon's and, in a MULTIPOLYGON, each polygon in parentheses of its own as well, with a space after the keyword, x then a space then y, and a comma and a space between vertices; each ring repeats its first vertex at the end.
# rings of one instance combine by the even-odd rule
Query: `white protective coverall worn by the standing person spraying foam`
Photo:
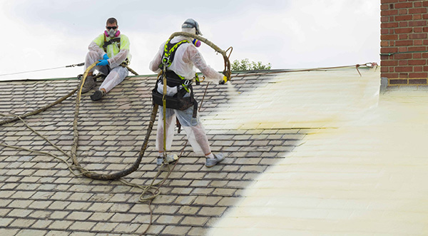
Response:
MULTIPOLYGON (((184 36, 176 36, 170 40, 170 43, 178 43, 179 41, 192 40, 184 36)), ((166 43, 166 42, 165 42, 166 43)), ((160 72, 159 65, 161 65, 163 50, 165 43, 162 43, 155 58, 150 63, 151 71, 156 73, 160 72)), ((174 71, 176 74, 183 76, 185 79, 193 79, 195 77, 195 67, 198 68, 204 75, 205 80, 223 81, 223 74, 218 73, 213 68, 205 63, 202 55, 198 49, 192 43, 183 43, 175 51, 175 57, 173 63, 168 67, 168 70, 174 71)), ((163 84, 158 83, 158 92, 163 93, 163 84)), ((174 96, 177 93, 176 87, 167 86, 166 95, 174 96)), ((184 97, 190 96, 186 93, 184 97)), ((192 145, 193 151, 198 155, 208 155, 211 153, 210 144, 205 134, 205 128, 200 123, 199 115, 193 118, 193 106, 190 108, 179 111, 171 108, 166 108, 166 149, 170 150, 174 138, 174 127, 175 127, 175 116, 180 121, 180 124, 185 130, 190 145, 192 145)), ((159 119, 158 119, 158 132, 156 135, 156 149, 163 151, 163 107, 159 106, 159 119)))

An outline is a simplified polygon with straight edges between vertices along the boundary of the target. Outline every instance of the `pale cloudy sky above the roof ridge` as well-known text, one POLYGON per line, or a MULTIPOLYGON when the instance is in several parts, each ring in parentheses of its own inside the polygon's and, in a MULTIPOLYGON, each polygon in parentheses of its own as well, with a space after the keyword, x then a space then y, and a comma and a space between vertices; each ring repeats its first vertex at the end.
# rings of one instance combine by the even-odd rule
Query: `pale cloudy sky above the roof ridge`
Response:
MULTIPOLYGON (((56 68, 84 61, 88 44, 118 19, 131 41, 131 68, 152 74, 148 64, 160 44, 185 19, 220 48, 233 46, 231 61, 271 63, 272 68, 315 68, 379 62, 379 0, 280 1, 80 1, 0 0, 0 75, 56 68)), ((223 58, 206 45, 205 61, 223 71, 223 58)), ((0 76, 64 78, 83 67, 0 76)))

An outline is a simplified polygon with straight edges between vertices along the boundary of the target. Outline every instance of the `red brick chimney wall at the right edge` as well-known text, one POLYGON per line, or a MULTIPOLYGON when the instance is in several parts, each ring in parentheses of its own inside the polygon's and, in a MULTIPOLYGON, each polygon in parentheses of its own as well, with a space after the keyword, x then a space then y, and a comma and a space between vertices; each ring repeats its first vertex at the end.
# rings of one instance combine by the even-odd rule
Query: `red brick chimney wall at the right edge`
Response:
POLYGON ((428 1, 381 0, 381 77, 389 86, 427 85, 428 1))

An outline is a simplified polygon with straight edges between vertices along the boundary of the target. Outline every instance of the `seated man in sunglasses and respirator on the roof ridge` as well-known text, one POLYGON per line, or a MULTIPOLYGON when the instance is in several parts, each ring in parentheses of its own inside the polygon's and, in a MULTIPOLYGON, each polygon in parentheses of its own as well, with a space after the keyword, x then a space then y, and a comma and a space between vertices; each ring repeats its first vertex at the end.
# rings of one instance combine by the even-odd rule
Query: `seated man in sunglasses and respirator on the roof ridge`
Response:
POLYGON ((130 62, 129 39, 118 30, 118 21, 109 18, 106 22, 106 31, 91 41, 88 46, 88 53, 85 58, 85 70, 94 62, 96 66, 88 72, 86 81, 83 84, 82 93, 91 91, 96 86, 93 78, 93 71, 99 71, 106 76, 101 86, 91 95, 93 101, 100 100, 106 93, 128 76, 128 69, 125 67, 130 62))

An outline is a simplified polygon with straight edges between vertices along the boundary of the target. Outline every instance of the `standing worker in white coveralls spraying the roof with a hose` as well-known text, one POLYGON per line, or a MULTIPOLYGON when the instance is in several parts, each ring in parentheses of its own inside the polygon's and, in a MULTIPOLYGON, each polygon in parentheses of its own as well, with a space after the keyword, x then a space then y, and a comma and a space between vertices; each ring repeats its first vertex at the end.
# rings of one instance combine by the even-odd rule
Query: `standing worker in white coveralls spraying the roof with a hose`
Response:
MULTIPOLYGON (((198 22, 193 19, 186 20, 181 26, 181 29, 183 32, 202 35, 200 34, 198 22)), ((205 80, 215 82, 224 82, 227 80, 223 74, 218 73, 205 63, 203 56, 198 51, 198 48, 196 48, 197 46, 200 46, 200 41, 196 39, 190 39, 185 36, 176 36, 170 41, 162 43, 155 58, 151 61, 151 71, 159 73, 162 68, 166 70, 166 96, 168 98, 173 98, 173 96, 193 98, 191 83, 193 78, 195 78, 195 67, 205 75, 205 80), (168 58, 165 58, 165 53, 168 58), (165 63, 166 65, 164 67, 165 63)), ((155 91, 157 90, 161 95, 163 94, 162 78, 163 77, 161 76, 156 83, 155 89, 155 91)), ((155 91, 153 91, 153 93, 155 93, 155 91)), ((153 100, 154 97, 155 96, 153 95, 153 100)), ((195 107, 197 107, 196 102, 195 104, 195 107)), ((165 160, 165 163, 171 163, 177 159, 177 155, 175 154, 163 155, 163 132, 164 130, 166 132, 166 150, 170 150, 174 136, 175 118, 178 118, 183 130, 185 130, 193 151, 200 155, 205 155, 205 166, 212 167, 225 159, 225 155, 223 153, 211 153, 205 128, 202 123, 200 123, 197 109, 195 109, 195 107, 190 106, 183 111, 166 108, 166 127, 163 127, 163 107, 159 106, 158 132, 156 135, 156 149, 159 152, 157 159, 158 165, 161 165, 163 160, 165 160)))

